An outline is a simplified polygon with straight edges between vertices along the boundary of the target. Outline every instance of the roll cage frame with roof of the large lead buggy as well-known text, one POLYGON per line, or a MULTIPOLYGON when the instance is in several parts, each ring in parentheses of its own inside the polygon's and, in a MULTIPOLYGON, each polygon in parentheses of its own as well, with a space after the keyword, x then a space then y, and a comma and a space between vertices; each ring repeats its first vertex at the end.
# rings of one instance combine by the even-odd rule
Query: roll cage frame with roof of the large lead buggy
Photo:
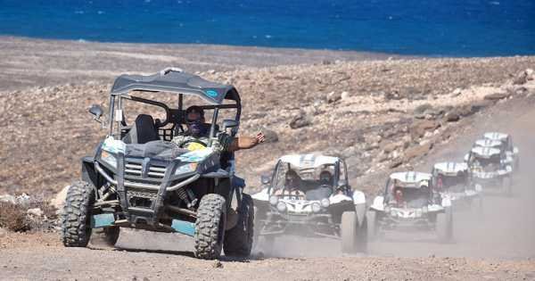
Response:
MULTIPOLYGON (((169 94, 168 94, 169 95, 169 94)), ((159 73, 142 75, 121 75, 111 87, 110 112, 108 119, 108 134, 115 139, 120 139, 124 131, 128 129, 124 118, 124 100, 128 99, 138 103, 147 103, 160 107, 165 112, 165 120, 156 120, 155 127, 160 131, 164 140, 170 140, 173 136, 182 132, 181 125, 185 124, 184 95, 200 97, 206 103, 199 105, 203 110, 213 110, 210 124, 210 139, 216 136, 218 128, 218 113, 221 109, 235 109, 235 122, 239 124, 242 106, 240 95, 233 86, 218 84, 204 80, 193 74, 188 74, 179 69, 168 68, 159 73), (135 95, 139 92, 170 93, 178 97, 177 107, 171 108, 166 103, 146 99, 135 95), (234 103, 225 103, 231 101, 234 103), (114 126, 116 123, 116 126, 114 126), (172 124, 171 128, 164 128, 172 124)), ((195 104, 196 105, 196 104, 195 104)), ((238 128, 233 128, 232 136, 237 134, 238 128)))

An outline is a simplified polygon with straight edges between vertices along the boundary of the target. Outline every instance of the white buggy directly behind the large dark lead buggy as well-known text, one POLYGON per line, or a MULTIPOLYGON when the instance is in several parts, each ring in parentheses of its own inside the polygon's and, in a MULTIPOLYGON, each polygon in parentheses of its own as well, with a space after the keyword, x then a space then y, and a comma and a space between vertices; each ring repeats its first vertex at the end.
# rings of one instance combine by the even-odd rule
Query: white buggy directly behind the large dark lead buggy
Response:
POLYGON ((269 246, 276 236, 332 237, 342 240, 342 252, 366 252, 366 198, 348 185, 347 167, 342 159, 324 155, 281 157, 267 185, 255 202, 258 236, 269 246), (299 187, 286 183, 289 171, 299 175, 299 187), (320 174, 332 175, 322 181, 320 174))

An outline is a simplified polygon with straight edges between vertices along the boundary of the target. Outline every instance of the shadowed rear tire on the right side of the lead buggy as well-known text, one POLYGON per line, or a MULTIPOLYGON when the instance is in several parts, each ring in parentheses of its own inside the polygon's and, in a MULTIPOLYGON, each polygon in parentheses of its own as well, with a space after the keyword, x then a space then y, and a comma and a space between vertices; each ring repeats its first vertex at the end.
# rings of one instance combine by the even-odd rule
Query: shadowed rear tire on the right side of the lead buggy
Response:
POLYGON ((254 206, 249 194, 242 195, 242 204, 238 210, 238 222, 225 234, 223 249, 225 255, 248 257, 251 254, 254 235, 254 206))

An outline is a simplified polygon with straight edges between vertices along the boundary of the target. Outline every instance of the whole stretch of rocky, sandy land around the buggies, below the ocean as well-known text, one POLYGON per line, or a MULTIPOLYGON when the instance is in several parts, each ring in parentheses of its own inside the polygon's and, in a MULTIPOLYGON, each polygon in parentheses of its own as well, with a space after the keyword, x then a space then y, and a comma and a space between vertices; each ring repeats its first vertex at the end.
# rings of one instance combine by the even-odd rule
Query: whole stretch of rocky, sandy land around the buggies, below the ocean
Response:
POLYGON ((533 56, 387 59, 330 51, 3 39, 0 279, 535 278, 535 194, 526 172, 535 159, 533 56), (514 198, 486 201, 492 207, 485 219, 456 216, 455 244, 416 237, 373 243, 367 256, 341 256, 333 250, 337 242, 289 240, 276 257, 260 250, 251 260, 205 261, 195 260, 191 244, 177 243, 176 236, 127 232, 119 244, 128 251, 63 248, 50 204, 61 202, 61 196, 54 201, 56 194, 79 177, 79 159, 105 134, 87 108, 106 105, 119 72, 150 73, 169 65, 234 84, 243 99, 241 133, 267 133, 268 143, 237 154, 251 192, 282 154, 329 153, 347 161, 350 184, 371 198, 387 173, 458 160, 487 129, 514 134, 526 169, 514 198))

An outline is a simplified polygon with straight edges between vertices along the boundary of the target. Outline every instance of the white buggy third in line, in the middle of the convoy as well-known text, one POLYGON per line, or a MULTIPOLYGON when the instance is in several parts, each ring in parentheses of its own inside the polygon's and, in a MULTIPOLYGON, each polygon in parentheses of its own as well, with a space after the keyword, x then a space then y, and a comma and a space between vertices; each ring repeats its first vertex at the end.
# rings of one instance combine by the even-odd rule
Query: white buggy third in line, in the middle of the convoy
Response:
POLYGON ((396 172, 386 181, 383 194, 367 211, 368 238, 391 231, 436 231, 440 242, 453 237, 453 214, 448 196, 434 193, 432 175, 396 172))

